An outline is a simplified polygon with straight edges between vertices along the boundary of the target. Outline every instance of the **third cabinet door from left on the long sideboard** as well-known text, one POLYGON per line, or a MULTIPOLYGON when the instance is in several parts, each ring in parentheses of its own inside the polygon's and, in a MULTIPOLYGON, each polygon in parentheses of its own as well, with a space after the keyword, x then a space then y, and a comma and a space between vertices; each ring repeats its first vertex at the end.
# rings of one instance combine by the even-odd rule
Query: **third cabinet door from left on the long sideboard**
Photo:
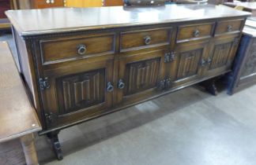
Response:
POLYGON ((199 79, 203 74, 205 61, 209 51, 209 41, 188 42, 178 44, 175 48, 176 68, 171 68, 171 77, 175 76, 174 86, 189 83, 194 79, 199 79))

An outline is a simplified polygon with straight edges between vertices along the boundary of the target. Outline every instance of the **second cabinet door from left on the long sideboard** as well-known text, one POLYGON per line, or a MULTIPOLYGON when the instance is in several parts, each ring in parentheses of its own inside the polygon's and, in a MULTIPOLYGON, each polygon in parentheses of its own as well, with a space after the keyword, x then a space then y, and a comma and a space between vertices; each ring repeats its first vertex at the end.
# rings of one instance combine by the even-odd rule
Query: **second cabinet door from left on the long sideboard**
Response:
POLYGON ((122 104, 141 101, 156 94, 164 79, 164 53, 156 50, 119 59, 117 100, 122 104))

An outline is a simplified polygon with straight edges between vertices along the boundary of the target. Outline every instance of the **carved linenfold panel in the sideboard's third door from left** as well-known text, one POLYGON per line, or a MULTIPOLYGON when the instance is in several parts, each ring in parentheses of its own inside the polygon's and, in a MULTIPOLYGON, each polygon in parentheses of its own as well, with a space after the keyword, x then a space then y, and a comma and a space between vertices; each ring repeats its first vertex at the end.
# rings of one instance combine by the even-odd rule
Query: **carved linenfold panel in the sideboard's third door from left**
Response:
POLYGON ((185 79, 198 74, 198 66, 202 53, 203 49, 195 49, 180 54, 177 79, 185 79))

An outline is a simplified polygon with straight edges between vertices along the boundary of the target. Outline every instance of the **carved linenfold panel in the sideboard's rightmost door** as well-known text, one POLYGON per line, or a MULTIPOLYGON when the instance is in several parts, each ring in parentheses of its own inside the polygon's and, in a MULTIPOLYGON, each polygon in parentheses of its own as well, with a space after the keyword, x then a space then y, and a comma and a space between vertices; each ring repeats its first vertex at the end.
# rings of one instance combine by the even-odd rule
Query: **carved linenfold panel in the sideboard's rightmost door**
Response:
POLYGON ((232 49, 232 42, 216 45, 213 49, 210 69, 219 68, 227 64, 228 56, 232 49))

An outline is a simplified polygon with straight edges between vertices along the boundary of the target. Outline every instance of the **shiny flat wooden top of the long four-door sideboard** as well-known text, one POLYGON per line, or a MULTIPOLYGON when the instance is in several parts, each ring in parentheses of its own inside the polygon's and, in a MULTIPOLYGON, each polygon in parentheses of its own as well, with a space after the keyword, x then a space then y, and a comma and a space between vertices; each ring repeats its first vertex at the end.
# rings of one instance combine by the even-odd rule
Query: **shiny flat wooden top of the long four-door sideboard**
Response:
POLYGON ((55 8, 9 10, 9 20, 21 36, 160 23, 178 23, 223 17, 250 16, 227 6, 168 5, 123 8, 55 8))

